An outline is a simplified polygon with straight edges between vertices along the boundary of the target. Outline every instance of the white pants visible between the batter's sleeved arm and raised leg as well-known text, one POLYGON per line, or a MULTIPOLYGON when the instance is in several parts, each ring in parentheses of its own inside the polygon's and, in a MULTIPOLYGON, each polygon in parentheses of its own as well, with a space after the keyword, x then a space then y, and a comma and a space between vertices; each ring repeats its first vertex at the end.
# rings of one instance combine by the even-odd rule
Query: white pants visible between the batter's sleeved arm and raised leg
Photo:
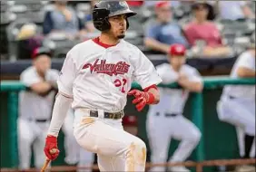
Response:
MULTIPOLYGON (((74 110, 69 109, 66 118, 64 119, 64 150, 65 150, 65 162, 70 165, 76 163, 78 167, 90 167, 94 165, 94 154, 92 152, 84 150, 81 148, 74 138, 74 110)), ((77 170, 83 172, 90 172, 91 169, 77 170)))

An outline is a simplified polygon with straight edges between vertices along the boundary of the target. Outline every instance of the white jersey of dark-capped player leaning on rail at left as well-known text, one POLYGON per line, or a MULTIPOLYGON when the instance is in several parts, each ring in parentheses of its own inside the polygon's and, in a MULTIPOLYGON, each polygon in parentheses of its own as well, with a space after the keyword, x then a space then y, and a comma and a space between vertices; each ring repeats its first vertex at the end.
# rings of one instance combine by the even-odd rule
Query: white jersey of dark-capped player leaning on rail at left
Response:
MULTIPOLYGON (((50 69, 45 74, 45 81, 56 81, 59 72, 50 69)), ((34 67, 27 68, 21 73, 20 81, 26 87, 43 81, 34 67)), ((33 91, 21 91, 19 95, 19 114, 24 119, 51 119, 55 91, 51 91, 45 97, 39 96, 33 91)))

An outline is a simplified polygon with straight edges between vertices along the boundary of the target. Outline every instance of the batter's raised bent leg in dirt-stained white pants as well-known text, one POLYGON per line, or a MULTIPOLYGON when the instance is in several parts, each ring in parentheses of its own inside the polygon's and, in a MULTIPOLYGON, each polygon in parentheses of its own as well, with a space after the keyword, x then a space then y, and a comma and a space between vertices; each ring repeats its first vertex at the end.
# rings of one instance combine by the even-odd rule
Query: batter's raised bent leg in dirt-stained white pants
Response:
POLYGON ((98 163, 101 171, 144 171, 146 146, 141 139, 103 122, 83 130, 75 134, 82 135, 76 137, 81 147, 109 158, 106 163, 98 163))

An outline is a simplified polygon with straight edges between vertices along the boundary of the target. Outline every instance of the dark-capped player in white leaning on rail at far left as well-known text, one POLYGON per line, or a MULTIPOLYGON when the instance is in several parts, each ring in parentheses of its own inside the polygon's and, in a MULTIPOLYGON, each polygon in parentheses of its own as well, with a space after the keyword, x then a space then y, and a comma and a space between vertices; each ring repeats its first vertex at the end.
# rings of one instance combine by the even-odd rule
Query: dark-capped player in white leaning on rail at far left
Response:
POLYGON ((34 51, 33 66, 21 73, 20 81, 27 87, 19 95, 18 149, 20 169, 30 168, 31 147, 34 165, 44 165, 44 136, 50 125, 56 80, 59 72, 51 68, 51 52, 44 47, 34 51), (43 135, 43 137, 42 137, 43 135))

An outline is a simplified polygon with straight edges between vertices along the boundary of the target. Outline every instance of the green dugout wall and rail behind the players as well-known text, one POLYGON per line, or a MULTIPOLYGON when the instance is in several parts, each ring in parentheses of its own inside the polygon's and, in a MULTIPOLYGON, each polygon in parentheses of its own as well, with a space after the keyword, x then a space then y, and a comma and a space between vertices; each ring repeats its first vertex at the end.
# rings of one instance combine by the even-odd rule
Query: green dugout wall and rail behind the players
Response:
MULTIPOLYGON (((192 119, 196 125, 201 125, 198 127, 202 130, 200 146, 192 153, 191 158, 188 160, 201 161, 239 157, 234 127, 221 122, 216 113, 216 102, 220 99, 222 86, 225 84, 255 84, 255 80, 231 80, 222 77, 204 78, 204 91, 202 94, 192 94, 184 111, 184 116, 192 119)), ((133 87, 139 88, 136 84, 133 84, 133 87)), ((165 85, 164 87, 177 87, 177 85, 165 85)), ((18 165, 15 119, 17 117, 18 104, 17 92, 23 89, 23 85, 18 82, 1 81, 1 168, 17 167, 18 165)), ((147 110, 137 112, 131 103, 131 98, 129 98, 124 111, 125 114, 133 114, 138 117, 138 135, 148 146, 148 160, 150 160, 150 148, 145 132, 147 110)), ((60 157, 54 161, 53 166, 64 165, 63 143, 64 135, 61 132, 59 137, 61 153, 60 157)), ((177 145, 178 142, 172 140, 169 155, 172 155, 177 145)), ((212 168, 208 169, 212 171, 212 168)))

